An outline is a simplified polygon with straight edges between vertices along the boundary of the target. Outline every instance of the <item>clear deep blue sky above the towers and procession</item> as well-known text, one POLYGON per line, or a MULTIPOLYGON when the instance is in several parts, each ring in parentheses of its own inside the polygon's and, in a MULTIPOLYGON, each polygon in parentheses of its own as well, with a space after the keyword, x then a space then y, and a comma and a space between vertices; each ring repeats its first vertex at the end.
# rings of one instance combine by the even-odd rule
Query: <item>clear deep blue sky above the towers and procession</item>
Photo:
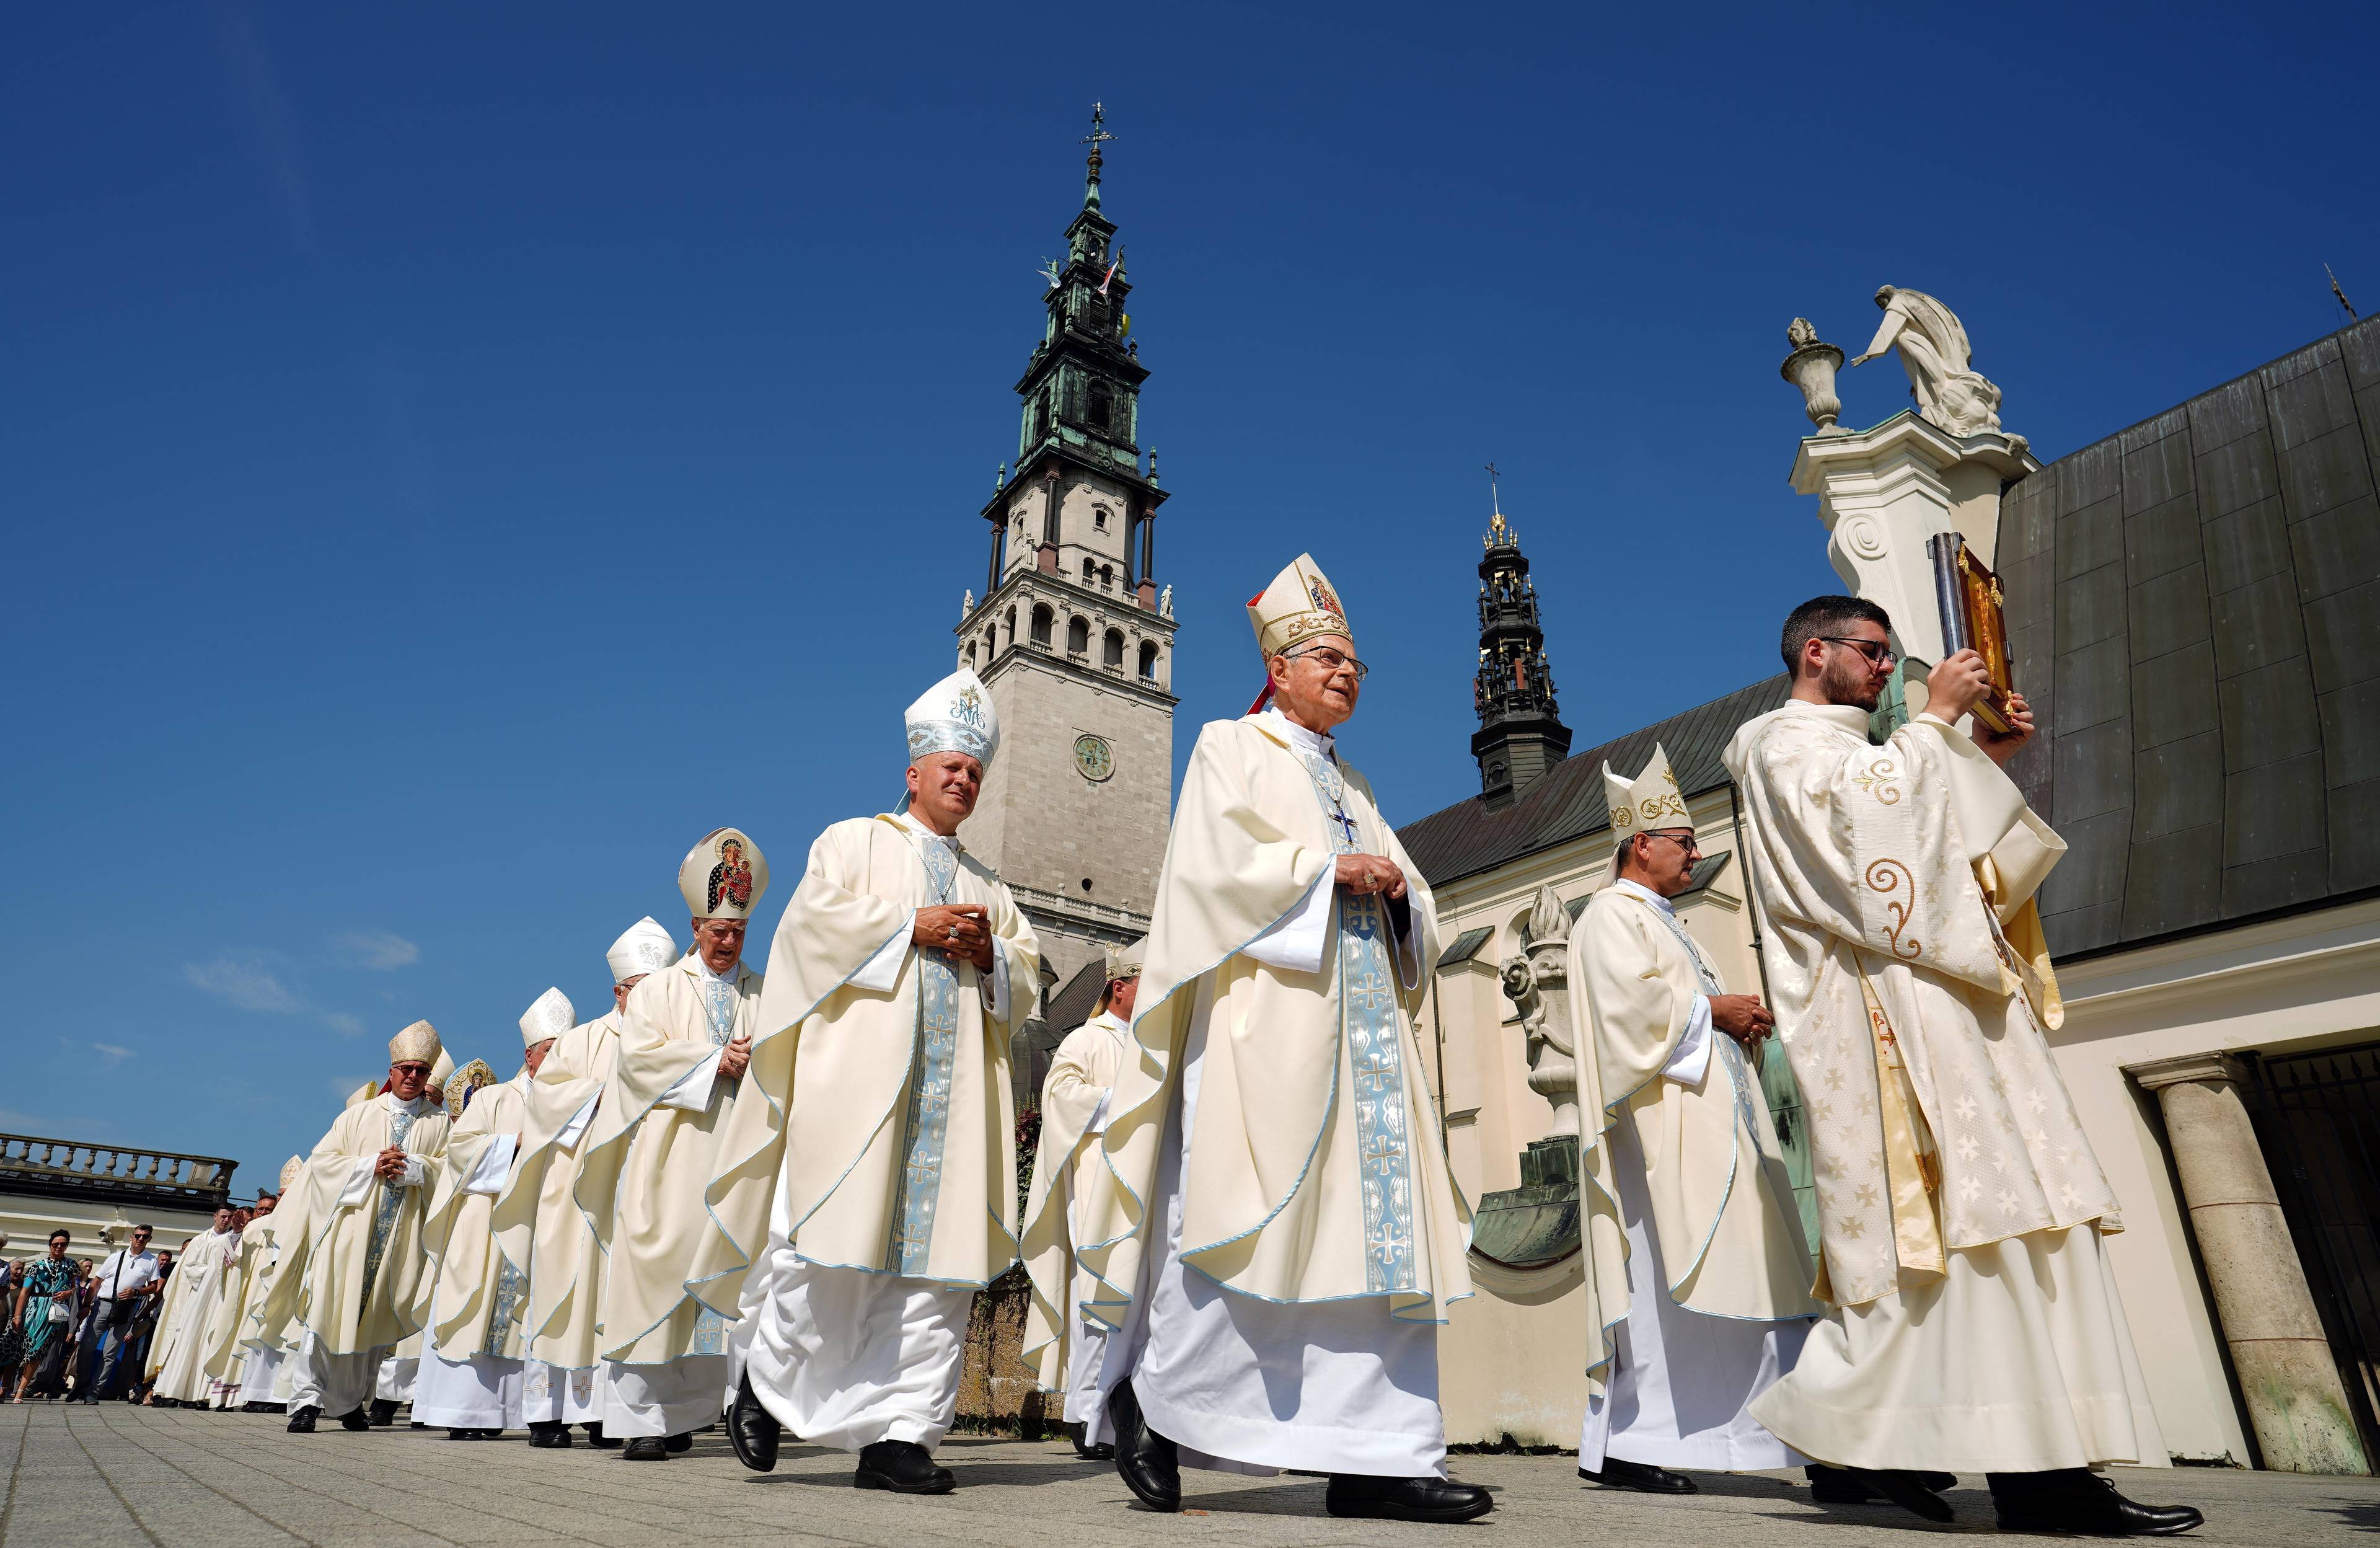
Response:
POLYGON ((781 900, 950 667, 1092 98, 1178 755, 1311 548, 1399 822, 1476 788, 1485 462, 1592 745, 1833 588, 1795 314, 1942 295, 2049 460, 2380 307, 2370 7, 1964 17, 14 12, 0 1129, 245 1191, 405 1022, 600 1010, 702 831, 781 900))

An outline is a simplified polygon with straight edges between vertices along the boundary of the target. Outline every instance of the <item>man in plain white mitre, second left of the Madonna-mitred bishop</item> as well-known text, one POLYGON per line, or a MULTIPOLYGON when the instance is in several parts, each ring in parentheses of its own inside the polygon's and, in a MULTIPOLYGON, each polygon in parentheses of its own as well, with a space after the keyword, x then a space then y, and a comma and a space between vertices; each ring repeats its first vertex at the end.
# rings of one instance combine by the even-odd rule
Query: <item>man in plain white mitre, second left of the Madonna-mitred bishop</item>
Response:
POLYGON ((521 1012, 521 1072, 469 1093, 447 1081, 447 1165, 431 1198, 426 1236, 436 1274, 421 1291, 421 1381, 414 1424, 445 1427, 450 1441, 493 1438, 521 1422, 521 1307, 528 1262, 495 1241, 490 1215, 512 1181, 528 1084, 555 1038, 578 1017, 559 988, 521 1012), (457 1098, 462 1105, 457 1107, 457 1098))

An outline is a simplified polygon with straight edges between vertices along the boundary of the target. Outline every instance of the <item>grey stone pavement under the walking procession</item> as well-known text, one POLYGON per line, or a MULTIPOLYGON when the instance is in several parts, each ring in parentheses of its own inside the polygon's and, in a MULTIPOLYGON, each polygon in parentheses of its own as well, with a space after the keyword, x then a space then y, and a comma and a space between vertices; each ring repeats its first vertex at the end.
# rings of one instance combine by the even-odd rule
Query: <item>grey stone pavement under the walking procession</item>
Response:
MULTIPOLYGON (((1185 1474, 1180 1517, 1133 1503, 1114 1469, 1076 1462, 1057 1441, 954 1436, 942 1460, 959 1491, 914 1500, 850 1484, 840 1453, 788 1446, 774 1474, 747 1474, 724 1436, 662 1465, 616 1450, 531 1450, 447 1441, 445 1431, 338 1427, 288 1436, 276 1417, 136 1410, 121 1403, 0 1407, 0 1548, 531 1548, 654 1541, 881 1543, 885 1548, 1288 1548, 1304 1543, 1759 1543, 1883 1546, 1897 1531, 1992 1531, 1983 1479, 1952 1496, 1959 1519, 1933 1527, 1875 1505, 1828 1510, 1797 1481, 1702 1474, 1673 1500, 1587 1488, 1571 1458, 1454 1458, 1461 1479, 1497 1491, 1476 1527, 1335 1522, 1319 1479, 1185 1474)), ((2359 1543, 2380 1531, 2380 1481, 2268 1472, 2123 1472, 2118 1486, 2209 1515, 2192 1543, 2359 1543)), ((1999 1538, 2052 1541, 2052 1538, 1999 1538)))

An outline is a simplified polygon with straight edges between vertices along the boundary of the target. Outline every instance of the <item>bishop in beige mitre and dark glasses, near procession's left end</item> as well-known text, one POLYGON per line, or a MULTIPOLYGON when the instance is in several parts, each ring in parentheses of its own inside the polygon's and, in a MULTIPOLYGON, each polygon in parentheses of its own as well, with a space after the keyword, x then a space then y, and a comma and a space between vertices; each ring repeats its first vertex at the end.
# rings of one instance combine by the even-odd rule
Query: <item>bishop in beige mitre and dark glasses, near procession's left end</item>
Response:
POLYGON ((421 1215, 445 1157, 447 1117, 428 1100, 445 1055, 438 1029, 414 1022, 388 1041, 388 1084, 338 1115, 302 1172, 305 1238, 286 1243, 264 1327, 295 1319, 290 1434, 314 1419, 369 1429, 364 1403, 381 1362, 416 1334, 421 1215))

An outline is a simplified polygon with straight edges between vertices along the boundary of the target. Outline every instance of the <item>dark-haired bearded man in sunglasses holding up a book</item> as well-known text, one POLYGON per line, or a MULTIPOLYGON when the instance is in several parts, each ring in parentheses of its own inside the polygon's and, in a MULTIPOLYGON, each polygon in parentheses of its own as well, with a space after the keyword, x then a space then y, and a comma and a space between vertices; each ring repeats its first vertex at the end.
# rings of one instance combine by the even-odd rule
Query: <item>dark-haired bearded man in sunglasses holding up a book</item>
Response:
POLYGON ((1818 1324, 1752 1403, 1778 1438, 1949 1519, 1914 1469, 1990 1474, 1999 1522, 2178 1531, 2087 1469, 2166 1465, 2102 1248, 2116 1193, 2059 1079, 2061 1019, 2033 893, 2066 845, 2002 772, 2033 734, 1956 722, 1973 650, 1883 745, 1892 672, 1873 603, 1785 624, 1792 698, 1728 743, 1768 984, 1818 1179, 1818 1324))

